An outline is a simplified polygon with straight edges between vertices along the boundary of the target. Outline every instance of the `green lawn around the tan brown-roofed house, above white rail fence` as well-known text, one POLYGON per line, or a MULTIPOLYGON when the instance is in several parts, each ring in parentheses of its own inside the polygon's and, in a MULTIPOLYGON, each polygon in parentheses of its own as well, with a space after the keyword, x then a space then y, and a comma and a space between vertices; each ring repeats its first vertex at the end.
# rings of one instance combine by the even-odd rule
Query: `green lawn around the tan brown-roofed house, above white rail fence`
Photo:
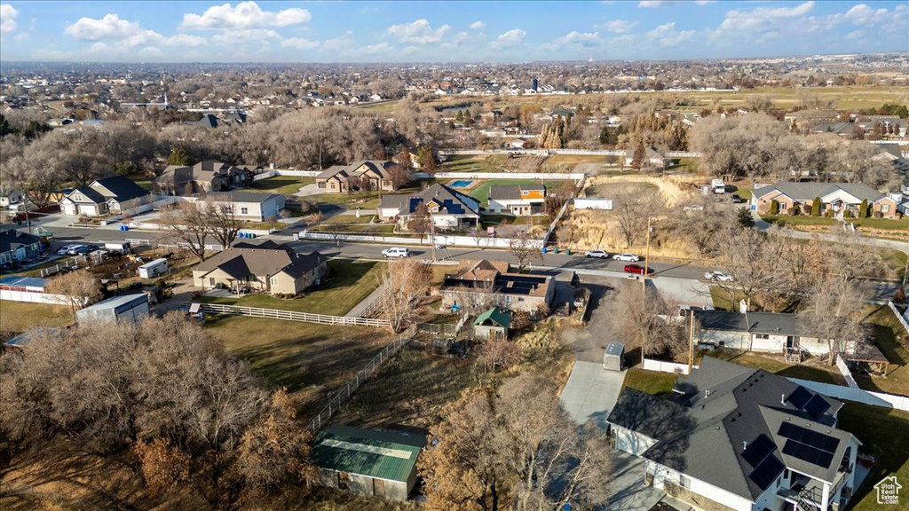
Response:
MULTIPOLYGON (((292 310, 313 314, 344 316, 375 290, 379 284, 381 263, 355 262, 333 259, 328 262, 331 273, 322 286, 315 287, 308 295, 282 299, 265 294, 236 298, 203 296, 198 301, 230 306, 262 307, 292 310)), ((276 320, 275 320, 276 321, 276 320)), ((278 324, 285 322, 276 321, 278 324)))

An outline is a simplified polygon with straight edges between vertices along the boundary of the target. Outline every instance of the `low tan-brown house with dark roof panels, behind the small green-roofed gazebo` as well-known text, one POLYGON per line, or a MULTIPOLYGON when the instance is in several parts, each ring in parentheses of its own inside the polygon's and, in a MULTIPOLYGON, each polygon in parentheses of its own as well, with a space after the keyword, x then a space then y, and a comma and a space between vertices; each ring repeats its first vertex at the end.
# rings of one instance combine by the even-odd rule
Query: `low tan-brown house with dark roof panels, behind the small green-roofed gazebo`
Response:
POLYGON ((442 306, 497 306, 504 310, 539 313, 553 303, 552 276, 511 272, 504 261, 462 260, 440 287, 442 306))

